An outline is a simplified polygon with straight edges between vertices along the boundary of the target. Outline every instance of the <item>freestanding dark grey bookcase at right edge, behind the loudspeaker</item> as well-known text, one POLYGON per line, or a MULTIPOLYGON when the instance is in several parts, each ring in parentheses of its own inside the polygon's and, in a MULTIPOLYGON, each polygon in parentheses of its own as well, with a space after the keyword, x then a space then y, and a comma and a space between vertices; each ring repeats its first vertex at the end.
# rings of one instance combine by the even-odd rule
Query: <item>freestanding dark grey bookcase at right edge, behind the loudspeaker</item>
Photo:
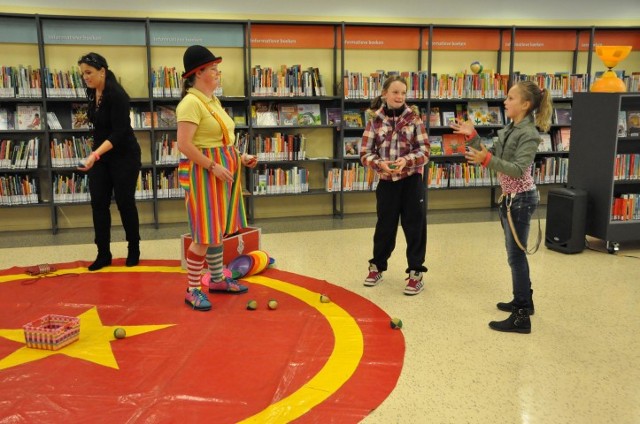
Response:
POLYGON ((620 242, 640 240, 640 122, 619 129, 633 113, 640 121, 640 94, 573 99, 569 185, 587 192, 586 234, 605 240, 610 253, 620 242))

